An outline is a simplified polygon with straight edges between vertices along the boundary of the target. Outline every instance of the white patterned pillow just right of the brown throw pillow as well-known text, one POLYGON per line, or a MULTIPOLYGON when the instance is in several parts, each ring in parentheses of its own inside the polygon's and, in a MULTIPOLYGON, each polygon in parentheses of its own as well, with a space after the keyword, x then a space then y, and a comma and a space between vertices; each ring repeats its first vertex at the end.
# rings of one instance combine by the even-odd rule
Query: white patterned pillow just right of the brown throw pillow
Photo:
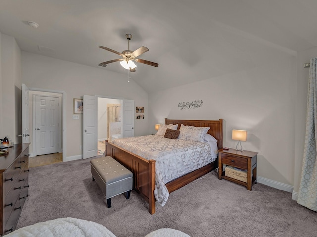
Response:
POLYGON ((210 129, 210 127, 194 127, 194 126, 185 126, 181 124, 179 139, 189 140, 189 141, 198 141, 204 142, 205 134, 210 129))

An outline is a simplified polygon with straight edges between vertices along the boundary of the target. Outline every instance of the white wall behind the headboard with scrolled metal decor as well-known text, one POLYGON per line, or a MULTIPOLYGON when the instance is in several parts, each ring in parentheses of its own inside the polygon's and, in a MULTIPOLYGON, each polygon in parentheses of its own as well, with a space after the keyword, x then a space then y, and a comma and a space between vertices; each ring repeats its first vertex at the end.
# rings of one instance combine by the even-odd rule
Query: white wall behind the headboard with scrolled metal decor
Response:
POLYGON ((250 64, 247 70, 149 94, 149 130, 154 132, 154 125, 164 123, 164 118, 223 118, 224 146, 236 146, 237 141, 231 139, 232 129, 247 130, 248 140, 242 145, 245 150, 259 152, 258 177, 291 188, 294 184, 296 53, 267 43, 256 44, 261 63, 250 64), (181 110, 178 107, 179 102, 200 99, 203 100, 201 108, 181 110))

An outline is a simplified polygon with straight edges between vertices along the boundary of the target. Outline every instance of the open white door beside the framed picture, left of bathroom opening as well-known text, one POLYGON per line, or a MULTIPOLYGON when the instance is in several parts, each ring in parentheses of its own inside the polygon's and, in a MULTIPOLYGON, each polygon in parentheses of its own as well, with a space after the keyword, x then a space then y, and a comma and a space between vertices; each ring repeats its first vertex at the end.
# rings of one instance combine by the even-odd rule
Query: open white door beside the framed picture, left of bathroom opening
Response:
POLYGON ((83 99, 83 159, 98 153, 97 97, 84 95, 83 99))

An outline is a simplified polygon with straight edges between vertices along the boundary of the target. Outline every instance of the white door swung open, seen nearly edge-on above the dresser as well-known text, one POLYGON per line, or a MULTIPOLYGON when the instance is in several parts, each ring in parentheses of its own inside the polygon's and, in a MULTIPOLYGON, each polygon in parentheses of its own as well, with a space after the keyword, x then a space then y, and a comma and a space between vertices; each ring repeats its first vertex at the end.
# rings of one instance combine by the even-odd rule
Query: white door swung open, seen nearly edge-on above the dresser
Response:
MULTIPOLYGON (((30 142, 30 125, 29 125, 29 88, 22 84, 22 143, 30 142)), ((18 143, 18 142, 16 142, 18 143)))

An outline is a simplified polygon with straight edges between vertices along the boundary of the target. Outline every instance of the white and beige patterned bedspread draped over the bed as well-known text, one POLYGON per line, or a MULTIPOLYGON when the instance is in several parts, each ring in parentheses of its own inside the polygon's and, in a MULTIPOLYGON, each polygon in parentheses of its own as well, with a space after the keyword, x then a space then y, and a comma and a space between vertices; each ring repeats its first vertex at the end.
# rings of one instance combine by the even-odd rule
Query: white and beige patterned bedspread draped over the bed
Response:
POLYGON ((157 202, 164 206, 169 192, 166 183, 201 168, 215 160, 207 142, 168 139, 147 135, 115 139, 111 143, 147 160, 155 160, 155 190, 157 202))

